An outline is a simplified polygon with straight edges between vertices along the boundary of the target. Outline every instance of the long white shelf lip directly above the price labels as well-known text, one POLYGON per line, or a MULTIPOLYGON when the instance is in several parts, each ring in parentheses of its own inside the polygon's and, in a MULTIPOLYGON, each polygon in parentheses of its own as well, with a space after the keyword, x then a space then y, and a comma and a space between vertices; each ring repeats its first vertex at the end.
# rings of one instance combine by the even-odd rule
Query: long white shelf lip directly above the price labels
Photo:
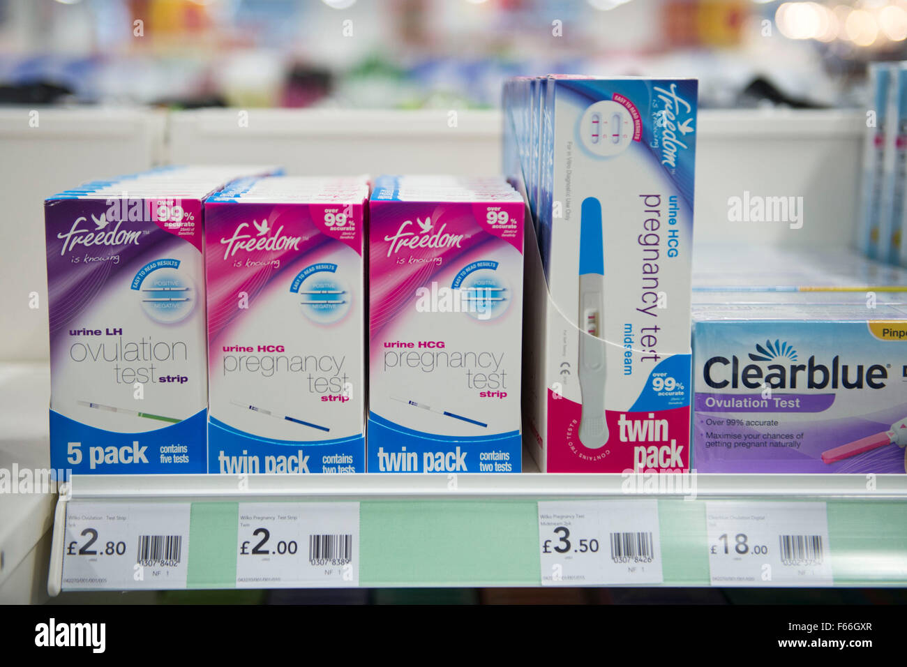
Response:
POLYGON ((160 475, 74 476, 73 500, 253 497, 412 498, 541 496, 843 497, 907 500, 907 476, 878 475, 160 475), (648 485, 658 485, 649 489, 648 485))

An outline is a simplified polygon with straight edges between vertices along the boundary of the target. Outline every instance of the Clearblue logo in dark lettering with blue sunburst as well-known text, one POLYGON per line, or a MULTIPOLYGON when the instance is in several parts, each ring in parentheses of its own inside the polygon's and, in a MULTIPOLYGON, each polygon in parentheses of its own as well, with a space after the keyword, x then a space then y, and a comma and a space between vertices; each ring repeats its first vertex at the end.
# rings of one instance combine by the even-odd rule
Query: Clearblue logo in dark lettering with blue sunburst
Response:
POLYGON ((848 364, 835 355, 829 363, 814 356, 803 364, 797 361, 795 348, 787 342, 766 340, 749 353, 753 364, 741 363, 736 356, 709 358, 702 368, 702 378, 713 389, 882 389, 888 369, 882 364, 848 364))

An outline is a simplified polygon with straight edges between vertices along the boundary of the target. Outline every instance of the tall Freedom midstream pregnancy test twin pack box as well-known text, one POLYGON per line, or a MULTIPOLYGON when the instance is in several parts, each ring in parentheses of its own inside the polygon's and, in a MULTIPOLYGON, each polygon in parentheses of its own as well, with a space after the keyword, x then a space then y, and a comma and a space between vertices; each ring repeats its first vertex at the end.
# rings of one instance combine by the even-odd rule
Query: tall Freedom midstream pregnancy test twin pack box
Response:
POLYGON ((544 472, 686 471, 697 82, 549 76, 543 90, 532 456, 544 472))

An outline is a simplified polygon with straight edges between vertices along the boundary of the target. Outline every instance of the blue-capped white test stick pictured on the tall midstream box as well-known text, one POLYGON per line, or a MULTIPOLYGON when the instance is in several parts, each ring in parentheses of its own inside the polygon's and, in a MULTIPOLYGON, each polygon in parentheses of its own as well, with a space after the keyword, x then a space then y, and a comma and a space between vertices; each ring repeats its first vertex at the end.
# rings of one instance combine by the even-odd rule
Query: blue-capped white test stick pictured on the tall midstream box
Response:
POLYGON ((601 243, 601 203, 595 197, 580 209, 580 442, 599 449, 608 442, 605 419, 604 333, 605 260, 601 243))

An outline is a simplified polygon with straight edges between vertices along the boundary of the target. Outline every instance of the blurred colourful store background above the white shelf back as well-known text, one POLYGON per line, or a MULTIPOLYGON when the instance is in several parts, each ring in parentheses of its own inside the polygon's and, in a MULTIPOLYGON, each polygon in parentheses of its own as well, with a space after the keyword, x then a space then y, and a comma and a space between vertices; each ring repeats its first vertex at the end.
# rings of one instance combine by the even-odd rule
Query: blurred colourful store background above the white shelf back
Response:
POLYGON ((0 103, 488 108, 514 74, 678 74, 853 106, 898 0, 0 0, 0 103))

